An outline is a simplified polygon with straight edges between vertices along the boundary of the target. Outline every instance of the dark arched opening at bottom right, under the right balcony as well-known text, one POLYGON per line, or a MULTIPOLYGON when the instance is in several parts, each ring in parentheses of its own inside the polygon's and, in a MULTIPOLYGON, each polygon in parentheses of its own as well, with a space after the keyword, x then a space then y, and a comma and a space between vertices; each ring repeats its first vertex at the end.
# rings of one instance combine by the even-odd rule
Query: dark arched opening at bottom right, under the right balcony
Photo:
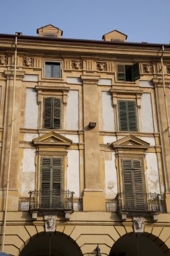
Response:
POLYGON ((138 250, 141 256, 169 256, 170 249, 159 236, 155 236, 152 232, 128 232, 114 243, 110 256, 135 256, 138 255, 138 250))

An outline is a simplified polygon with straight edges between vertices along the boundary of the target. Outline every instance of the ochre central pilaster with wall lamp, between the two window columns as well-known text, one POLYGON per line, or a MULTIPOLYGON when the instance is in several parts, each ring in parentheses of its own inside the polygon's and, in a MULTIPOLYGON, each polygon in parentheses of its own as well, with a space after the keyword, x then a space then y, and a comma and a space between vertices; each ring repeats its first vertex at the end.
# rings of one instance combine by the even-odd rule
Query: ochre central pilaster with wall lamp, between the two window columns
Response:
POLYGON ((97 75, 81 75, 83 80, 83 122, 85 142, 85 189, 83 211, 104 211, 105 198, 101 189, 99 157, 99 99, 97 75), (89 123, 96 123, 94 128, 89 123))

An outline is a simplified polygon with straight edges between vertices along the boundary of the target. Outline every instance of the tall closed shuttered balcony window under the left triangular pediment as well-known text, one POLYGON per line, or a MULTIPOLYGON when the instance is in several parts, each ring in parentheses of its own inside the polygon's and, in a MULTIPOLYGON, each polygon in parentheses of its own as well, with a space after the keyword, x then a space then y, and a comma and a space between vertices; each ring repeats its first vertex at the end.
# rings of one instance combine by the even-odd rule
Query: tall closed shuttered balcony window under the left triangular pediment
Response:
POLYGON ((41 207, 60 208, 62 191, 62 158, 41 158, 41 207))

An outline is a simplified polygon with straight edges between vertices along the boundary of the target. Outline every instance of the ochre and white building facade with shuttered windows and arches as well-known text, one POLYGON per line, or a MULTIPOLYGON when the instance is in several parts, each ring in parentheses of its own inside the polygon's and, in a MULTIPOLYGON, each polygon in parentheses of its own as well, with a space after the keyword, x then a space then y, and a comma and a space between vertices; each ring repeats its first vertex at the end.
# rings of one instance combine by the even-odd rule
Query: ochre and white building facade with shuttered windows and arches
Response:
POLYGON ((170 46, 0 34, 1 251, 170 255, 170 46))

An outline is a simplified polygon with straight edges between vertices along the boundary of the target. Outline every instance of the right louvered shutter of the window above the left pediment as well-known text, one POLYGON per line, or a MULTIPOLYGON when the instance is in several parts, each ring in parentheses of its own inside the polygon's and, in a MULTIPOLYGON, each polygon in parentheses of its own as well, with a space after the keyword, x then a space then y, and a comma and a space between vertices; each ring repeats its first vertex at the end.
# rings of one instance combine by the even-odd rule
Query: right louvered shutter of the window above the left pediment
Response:
POLYGON ((60 129, 60 98, 53 98, 53 127, 54 129, 60 129))

